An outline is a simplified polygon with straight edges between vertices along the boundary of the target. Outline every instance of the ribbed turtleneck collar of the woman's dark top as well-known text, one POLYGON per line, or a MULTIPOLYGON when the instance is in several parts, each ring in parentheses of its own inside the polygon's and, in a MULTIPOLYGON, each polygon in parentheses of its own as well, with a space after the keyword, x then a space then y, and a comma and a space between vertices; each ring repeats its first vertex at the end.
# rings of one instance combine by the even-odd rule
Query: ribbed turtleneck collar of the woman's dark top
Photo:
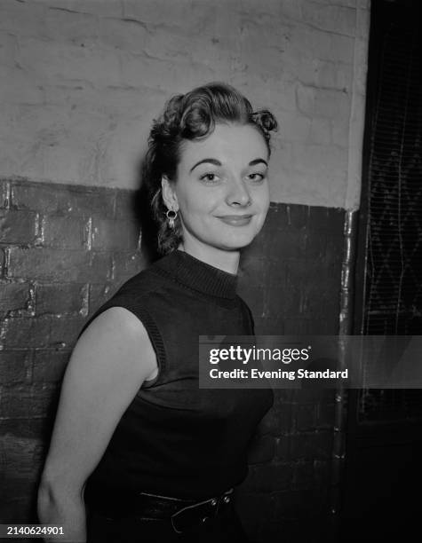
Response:
POLYGON ((221 298, 235 298, 236 275, 219 270, 219 268, 206 264, 184 251, 175 249, 170 255, 163 256, 155 262, 155 266, 166 271, 179 283, 203 294, 221 298))

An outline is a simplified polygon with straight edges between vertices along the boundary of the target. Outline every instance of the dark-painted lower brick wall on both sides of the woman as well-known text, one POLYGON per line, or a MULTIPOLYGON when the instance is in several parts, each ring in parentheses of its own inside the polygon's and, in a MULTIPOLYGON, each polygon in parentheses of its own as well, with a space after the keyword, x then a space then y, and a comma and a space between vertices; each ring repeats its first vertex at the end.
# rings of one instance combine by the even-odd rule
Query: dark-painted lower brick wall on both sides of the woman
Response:
MULTIPOLYGON (((0 522, 35 521, 60 379, 85 319, 147 264, 130 191, 0 181, 0 522)), ((272 204, 243 254, 258 334, 336 334, 344 212, 272 204)), ((257 541, 328 518, 332 391, 277 390, 239 508, 257 541)))

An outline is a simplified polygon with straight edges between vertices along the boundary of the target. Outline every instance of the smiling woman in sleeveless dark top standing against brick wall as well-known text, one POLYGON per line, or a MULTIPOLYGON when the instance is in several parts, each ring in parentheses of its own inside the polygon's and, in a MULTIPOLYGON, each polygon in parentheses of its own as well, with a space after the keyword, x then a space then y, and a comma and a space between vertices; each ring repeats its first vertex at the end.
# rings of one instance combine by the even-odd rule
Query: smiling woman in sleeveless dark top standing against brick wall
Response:
POLYGON ((199 390, 198 335, 253 334, 240 251, 267 214, 275 118, 211 83, 154 122, 146 182, 163 258, 97 311, 63 381, 39 490, 72 541, 246 541, 233 487, 269 390, 199 390))

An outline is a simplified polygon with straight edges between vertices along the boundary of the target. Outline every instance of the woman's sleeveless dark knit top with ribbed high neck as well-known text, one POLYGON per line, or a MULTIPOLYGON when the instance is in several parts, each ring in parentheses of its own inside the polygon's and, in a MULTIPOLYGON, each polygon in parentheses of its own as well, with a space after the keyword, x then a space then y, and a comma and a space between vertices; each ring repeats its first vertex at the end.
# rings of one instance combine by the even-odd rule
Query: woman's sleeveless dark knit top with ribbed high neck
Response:
POLYGON ((251 311, 235 288, 235 275, 175 250, 92 316, 115 306, 136 315, 155 349, 158 375, 123 413, 85 493, 107 488, 196 499, 243 481, 247 445, 273 393, 198 387, 199 335, 253 334, 251 311))

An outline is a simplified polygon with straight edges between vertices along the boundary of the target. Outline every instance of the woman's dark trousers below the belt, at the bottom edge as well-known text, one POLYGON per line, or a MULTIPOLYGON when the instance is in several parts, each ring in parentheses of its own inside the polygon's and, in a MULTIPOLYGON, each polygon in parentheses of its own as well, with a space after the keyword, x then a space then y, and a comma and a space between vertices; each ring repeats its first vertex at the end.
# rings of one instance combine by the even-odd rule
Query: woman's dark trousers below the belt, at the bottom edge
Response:
POLYGON ((248 543, 232 505, 222 514, 200 521, 179 534, 171 520, 137 517, 111 519, 92 513, 87 522, 87 543, 248 543))

